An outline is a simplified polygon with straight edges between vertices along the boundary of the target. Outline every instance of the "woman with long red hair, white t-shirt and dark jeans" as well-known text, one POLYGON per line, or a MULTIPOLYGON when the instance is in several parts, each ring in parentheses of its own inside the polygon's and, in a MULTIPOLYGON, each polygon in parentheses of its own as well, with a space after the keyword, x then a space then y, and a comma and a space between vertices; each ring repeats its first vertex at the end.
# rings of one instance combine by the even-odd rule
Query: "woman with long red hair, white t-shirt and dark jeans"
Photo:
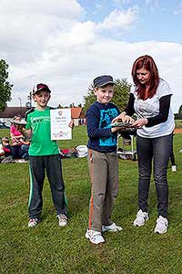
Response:
POLYGON ((136 59, 132 68, 134 87, 126 109, 115 119, 132 122, 136 128, 138 158, 138 212, 134 226, 142 227, 148 219, 147 198, 152 172, 157 190, 157 225, 154 232, 167 232, 167 163, 171 153, 174 115, 170 108, 172 90, 158 75, 150 56, 136 59), (131 116, 136 113, 136 121, 131 116))

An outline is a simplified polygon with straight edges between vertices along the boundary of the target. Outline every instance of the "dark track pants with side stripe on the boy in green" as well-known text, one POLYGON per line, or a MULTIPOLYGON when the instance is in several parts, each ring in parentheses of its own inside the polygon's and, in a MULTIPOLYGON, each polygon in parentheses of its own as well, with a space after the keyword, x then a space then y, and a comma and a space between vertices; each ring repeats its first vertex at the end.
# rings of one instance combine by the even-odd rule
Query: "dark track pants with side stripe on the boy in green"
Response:
POLYGON ((50 184, 53 203, 56 214, 65 214, 66 196, 65 185, 62 177, 62 165, 59 154, 47 156, 29 156, 30 164, 30 196, 29 196, 29 217, 38 218, 43 207, 43 185, 46 175, 50 184))

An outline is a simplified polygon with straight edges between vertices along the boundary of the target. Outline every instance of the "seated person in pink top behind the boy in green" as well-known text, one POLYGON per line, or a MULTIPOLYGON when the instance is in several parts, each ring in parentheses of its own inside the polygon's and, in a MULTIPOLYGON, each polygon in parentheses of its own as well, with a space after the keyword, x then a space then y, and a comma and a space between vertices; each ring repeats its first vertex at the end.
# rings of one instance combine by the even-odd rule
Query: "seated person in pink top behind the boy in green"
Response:
MULTIPOLYGON (((22 116, 21 115, 16 115, 14 117, 15 121, 21 121, 22 116)), ((12 139, 12 154, 14 159, 20 159, 21 158, 21 145, 22 143, 20 142, 20 139, 23 138, 23 135, 21 132, 17 130, 17 125, 13 123, 10 127, 10 136, 12 139)))

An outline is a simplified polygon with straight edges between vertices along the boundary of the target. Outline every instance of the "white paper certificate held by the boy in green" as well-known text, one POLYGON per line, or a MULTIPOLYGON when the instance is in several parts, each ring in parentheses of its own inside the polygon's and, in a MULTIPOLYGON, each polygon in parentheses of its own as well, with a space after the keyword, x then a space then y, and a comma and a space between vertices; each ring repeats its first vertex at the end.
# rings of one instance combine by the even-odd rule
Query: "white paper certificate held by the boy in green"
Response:
POLYGON ((51 140, 71 140, 71 109, 51 110, 51 140))

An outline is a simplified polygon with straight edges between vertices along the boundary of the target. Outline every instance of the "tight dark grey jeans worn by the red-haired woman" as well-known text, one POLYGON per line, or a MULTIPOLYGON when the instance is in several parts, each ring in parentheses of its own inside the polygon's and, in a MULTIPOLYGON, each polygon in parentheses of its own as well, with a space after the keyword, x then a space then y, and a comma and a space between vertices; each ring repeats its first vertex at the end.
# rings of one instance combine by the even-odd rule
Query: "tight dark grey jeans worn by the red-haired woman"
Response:
POLYGON ((138 205, 142 211, 147 212, 147 198, 152 172, 157 190, 158 216, 167 217, 168 186, 167 163, 171 153, 172 133, 158 138, 136 137, 136 150, 138 158, 138 205))

